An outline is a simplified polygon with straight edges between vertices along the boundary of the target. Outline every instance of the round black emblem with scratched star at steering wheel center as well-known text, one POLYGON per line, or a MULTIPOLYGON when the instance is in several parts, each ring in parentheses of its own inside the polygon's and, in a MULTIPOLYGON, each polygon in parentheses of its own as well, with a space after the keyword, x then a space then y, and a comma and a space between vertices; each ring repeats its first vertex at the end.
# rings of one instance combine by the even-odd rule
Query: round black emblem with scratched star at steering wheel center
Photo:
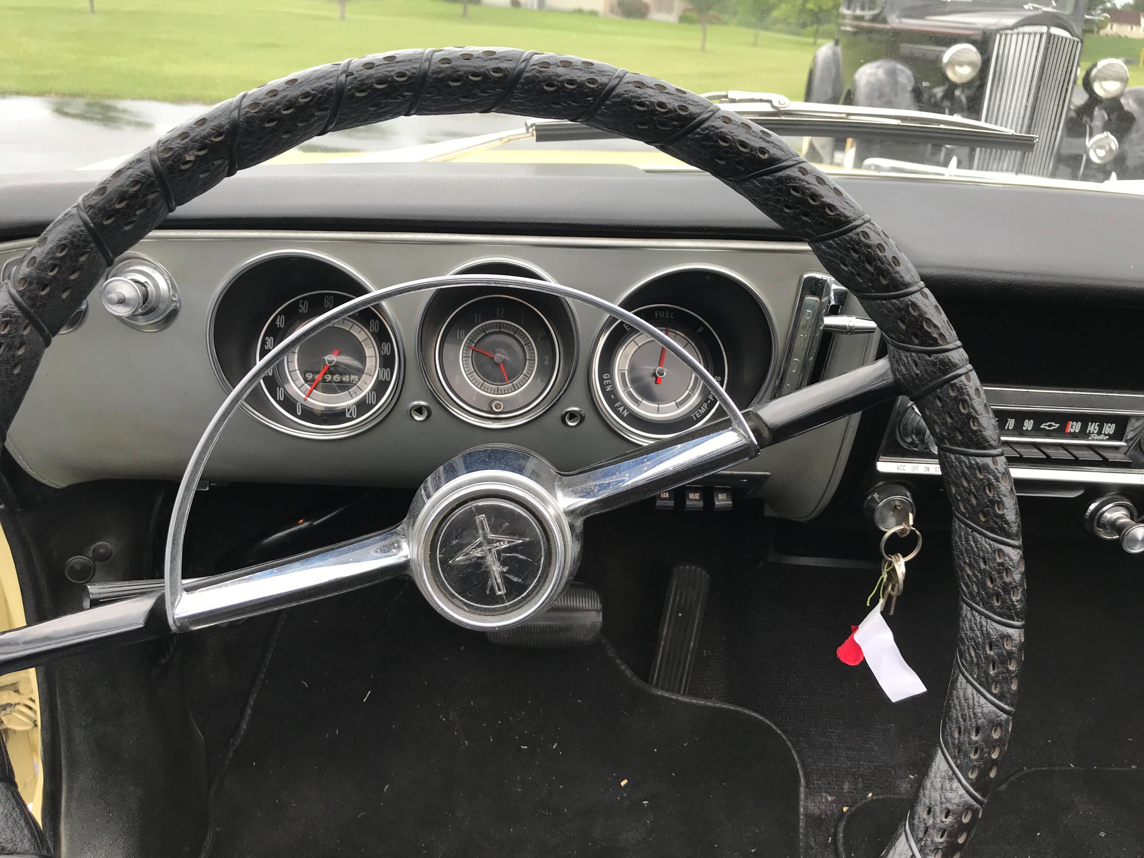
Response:
POLYGON ((500 498, 482 499, 445 517, 429 557, 451 601, 499 613, 527 599, 546 578, 547 542, 527 509, 500 498))

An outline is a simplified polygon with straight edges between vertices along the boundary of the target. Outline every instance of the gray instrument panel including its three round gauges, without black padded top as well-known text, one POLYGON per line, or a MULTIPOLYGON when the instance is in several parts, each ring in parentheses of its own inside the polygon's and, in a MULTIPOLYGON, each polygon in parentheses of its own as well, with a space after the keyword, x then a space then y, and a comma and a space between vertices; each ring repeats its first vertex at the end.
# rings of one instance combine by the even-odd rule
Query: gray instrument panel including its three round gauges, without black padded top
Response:
MULTIPOLYGON (((0 247, 0 264, 18 244, 0 247)), ((177 315, 143 329, 93 293, 9 436, 45 483, 177 478, 224 396, 283 336, 358 295, 438 275, 548 280, 619 303, 745 407, 776 394, 818 268, 805 245, 780 241, 271 230, 164 231, 133 260, 169 277, 177 315)), ((834 309, 861 315, 856 301, 834 309)), ((819 378, 839 374, 876 345, 839 336, 810 362, 819 378)), ((477 280, 384 301, 287 352, 227 428, 207 478, 415 486, 483 444, 575 470, 718 413, 682 360, 625 323, 477 280)), ((829 499, 856 422, 715 479, 809 517, 829 499)))

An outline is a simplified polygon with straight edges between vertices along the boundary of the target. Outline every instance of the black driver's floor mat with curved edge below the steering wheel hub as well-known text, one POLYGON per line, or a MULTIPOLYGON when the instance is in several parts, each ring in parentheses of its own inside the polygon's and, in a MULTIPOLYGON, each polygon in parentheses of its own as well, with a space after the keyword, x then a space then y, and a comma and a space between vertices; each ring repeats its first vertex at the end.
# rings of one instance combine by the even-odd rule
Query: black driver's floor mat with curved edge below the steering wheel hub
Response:
POLYGON ((782 734, 605 645, 488 644, 394 582, 292 611, 215 791, 213 858, 800 853, 782 734))

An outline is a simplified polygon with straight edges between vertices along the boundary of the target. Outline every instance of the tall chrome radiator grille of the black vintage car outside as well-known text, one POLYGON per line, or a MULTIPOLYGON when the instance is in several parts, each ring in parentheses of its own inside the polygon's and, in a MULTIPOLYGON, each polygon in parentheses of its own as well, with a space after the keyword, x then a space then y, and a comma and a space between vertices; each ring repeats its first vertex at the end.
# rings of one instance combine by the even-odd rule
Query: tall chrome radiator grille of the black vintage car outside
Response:
POLYGON ((982 120, 1035 134, 1036 146, 1032 152, 978 150, 976 169, 1049 175, 1077 77, 1080 47, 1080 39, 1055 26, 1019 26, 998 33, 982 120))

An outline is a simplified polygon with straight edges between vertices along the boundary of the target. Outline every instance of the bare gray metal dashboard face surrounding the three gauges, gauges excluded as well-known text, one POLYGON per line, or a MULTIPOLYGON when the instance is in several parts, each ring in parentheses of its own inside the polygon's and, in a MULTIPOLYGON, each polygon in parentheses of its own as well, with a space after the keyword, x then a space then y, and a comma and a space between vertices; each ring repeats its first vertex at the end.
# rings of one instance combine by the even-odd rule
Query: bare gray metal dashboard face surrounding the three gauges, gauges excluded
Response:
MULTIPOLYGON (((25 243, 0 246, 0 263, 25 243)), ((484 257, 521 260, 557 283, 620 301, 635 284, 678 267, 718 268, 749 284, 769 312, 776 353, 782 353, 800 276, 818 268, 805 245, 772 241, 496 237, 444 233, 318 233, 162 231, 136 251, 160 262, 178 284, 183 307, 159 333, 122 325, 98 303, 77 332, 57 337, 11 428, 9 448, 37 478, 69 485, 103 478, 176 479, 225 390, 210 364, 207 326, 222 285, 253 256, 310 249, 356 270, 381 287, 446 273, 484 257)), ((389 304, 406 362, 416 362, 416 325, 429 293, 389 304)), ((848 311, 860 312, 855 305, 848 311)), ((436 402, 415 363, 406 364, 397 406, 362 435, 313 440, 278 432, 246 413, 236 415, 215 450, 213 480, 415 486, 456 453, 482 444, 516 444, 572 470, 630 448, 598 414, 588 362, 602 313, 573 308, 580 353, 564 396, 524 426, 487 429, 450 414, 436 402), (414 422, 408 405, 434 403, 432 418, 414 422), (588 419, 565 427, 561 412, 580 407, 588 419)), ((839 337, 828 373, 873 356, 868 336, 839 337)), ((770 389, 771 382, 765 389, 770 389)), ((839 421, 765 451, 741 466, 770 474, 763 496, 779 514, 805 518, 828 500, 856 419, 839 421)))

